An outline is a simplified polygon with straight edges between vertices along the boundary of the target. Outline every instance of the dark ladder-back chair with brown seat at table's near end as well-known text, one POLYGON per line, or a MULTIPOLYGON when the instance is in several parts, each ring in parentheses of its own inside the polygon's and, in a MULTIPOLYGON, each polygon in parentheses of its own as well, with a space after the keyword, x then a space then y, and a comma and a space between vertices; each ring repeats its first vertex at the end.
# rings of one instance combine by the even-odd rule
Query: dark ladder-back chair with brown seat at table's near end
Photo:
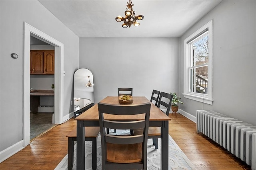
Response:
POLYGON ((102 149, 102 170, 147 169, 147 142, 150 116, 150 103, 112 105, 98 103, 100 136, 102 149), (104 113, 117 115, 144 115, 137 121, 114 121, 105 119, 104 113), (146 114, 144 114, 146 113, 146 114), (142 128, 140 135, 109 135, 106 128, 142 128))

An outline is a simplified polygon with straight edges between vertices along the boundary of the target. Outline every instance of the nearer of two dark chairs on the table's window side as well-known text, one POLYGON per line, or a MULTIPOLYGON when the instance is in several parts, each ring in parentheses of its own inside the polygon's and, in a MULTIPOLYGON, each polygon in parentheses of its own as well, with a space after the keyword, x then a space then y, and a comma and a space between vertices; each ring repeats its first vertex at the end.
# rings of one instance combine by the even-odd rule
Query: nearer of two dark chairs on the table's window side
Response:
MULTIPOLYGON (((166 112, 164 111, 163 112, 169 116, 171 105, 172 105, 172 94, 161 92, 157 107, 160 108, 162 106, 166 108, 166 112)), ((133 129, 133 131, 135 135, 142 134, 142 129, 133 129)), ((153 145, 155 145, 156 149, 158 149, 158 138, 161 138, 161 127, 150 126, 148 128, 148 139, 153 140, 153 145)))

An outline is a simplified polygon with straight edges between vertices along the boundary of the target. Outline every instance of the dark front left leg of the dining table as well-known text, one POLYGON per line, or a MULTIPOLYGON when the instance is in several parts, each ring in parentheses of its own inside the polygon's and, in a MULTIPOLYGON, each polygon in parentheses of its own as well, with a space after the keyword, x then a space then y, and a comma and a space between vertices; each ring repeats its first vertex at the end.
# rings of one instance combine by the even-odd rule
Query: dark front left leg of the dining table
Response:
POLYGON ((77 121, 77 134, 76 134, 76 169, 84 170, 85 169, 85 128, 83 126, 83 121, 77 121))

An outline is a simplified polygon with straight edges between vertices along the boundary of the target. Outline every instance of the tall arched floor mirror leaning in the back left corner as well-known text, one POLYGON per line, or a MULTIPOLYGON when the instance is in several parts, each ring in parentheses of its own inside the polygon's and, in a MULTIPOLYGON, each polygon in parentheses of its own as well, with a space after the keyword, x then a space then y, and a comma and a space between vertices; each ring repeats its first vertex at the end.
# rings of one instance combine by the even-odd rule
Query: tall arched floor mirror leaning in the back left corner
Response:
POLYGON ((74 117, 94 106, 92 72, 79 68, 74 73, 74 117))

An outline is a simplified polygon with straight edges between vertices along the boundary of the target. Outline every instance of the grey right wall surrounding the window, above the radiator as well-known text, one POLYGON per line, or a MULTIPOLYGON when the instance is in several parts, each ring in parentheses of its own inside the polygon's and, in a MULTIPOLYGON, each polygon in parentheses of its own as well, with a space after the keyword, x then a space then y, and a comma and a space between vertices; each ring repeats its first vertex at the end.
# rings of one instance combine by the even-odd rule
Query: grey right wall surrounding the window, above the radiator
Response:
POLYGON ((256 1, 222 1, 180 38, 180 92, 183 92, 183 41, 213 20, 213 105, 183 99, 194 116, 210 109, 256 125, 256 1))

